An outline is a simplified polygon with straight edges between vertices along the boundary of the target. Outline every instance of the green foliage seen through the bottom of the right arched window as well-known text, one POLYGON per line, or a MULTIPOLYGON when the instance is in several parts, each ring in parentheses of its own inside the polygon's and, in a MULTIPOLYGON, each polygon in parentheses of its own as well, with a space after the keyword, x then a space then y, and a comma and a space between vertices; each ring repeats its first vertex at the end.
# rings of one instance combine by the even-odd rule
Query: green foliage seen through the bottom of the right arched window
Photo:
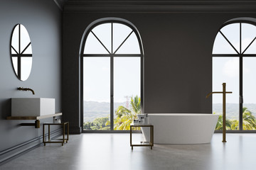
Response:
MULTIPOLYGON (((242 129, 256 130, 256 118, 247 108, 242 108, 242 129)), ((223 130, 223 115, 219 116, 215 130, 223 130)), ((227 119, 226 130, 239 130, 239 120, 227 119)))

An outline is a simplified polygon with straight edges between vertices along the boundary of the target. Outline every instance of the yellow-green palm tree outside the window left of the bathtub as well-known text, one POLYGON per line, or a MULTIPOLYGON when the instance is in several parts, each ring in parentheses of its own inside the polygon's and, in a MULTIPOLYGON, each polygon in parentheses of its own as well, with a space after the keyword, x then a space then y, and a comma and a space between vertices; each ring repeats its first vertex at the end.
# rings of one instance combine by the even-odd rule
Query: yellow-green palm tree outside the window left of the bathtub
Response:
MULTIPOLYGON (((129 130, 132 120, 137 119, 137 114, 141 113, 141 99, 138 96, 131 97, 131 110, 124 106, 119 106, 115 111, 114 130, 129 130)), ((140 128, 136 128, 139 130, 140 128)))

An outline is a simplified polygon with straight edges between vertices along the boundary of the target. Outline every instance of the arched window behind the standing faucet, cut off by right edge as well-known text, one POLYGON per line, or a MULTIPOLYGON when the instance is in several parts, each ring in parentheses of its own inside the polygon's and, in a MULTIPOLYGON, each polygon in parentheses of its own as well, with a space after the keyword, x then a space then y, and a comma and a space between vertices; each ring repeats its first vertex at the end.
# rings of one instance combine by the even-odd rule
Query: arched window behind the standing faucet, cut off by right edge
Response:
MULTIPOLYGON (((256 130, 256 22, 236 18, 218 31, 213 45, 213 91, 227 84, 227 130, 256 130)), ((222 96, 213 96, 213 113, 222 114, 222 96)), ((216 130, 221 130, 221 123, 216 130)))

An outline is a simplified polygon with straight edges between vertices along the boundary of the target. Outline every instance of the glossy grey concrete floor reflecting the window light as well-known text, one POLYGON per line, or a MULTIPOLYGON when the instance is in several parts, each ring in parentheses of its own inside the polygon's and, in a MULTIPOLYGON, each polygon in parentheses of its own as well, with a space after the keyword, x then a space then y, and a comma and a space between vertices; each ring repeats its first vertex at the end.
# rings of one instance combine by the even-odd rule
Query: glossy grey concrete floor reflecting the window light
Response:
MULTIPOLYGON (((140 140, 141 134, 134 134, 140 140)), ((70 135, 68 144, 47 144, 2 166, 16 169, 246 170, 256 167, 256 134, 214 134, 204 145, 129 147, 129 134, 70 135)))

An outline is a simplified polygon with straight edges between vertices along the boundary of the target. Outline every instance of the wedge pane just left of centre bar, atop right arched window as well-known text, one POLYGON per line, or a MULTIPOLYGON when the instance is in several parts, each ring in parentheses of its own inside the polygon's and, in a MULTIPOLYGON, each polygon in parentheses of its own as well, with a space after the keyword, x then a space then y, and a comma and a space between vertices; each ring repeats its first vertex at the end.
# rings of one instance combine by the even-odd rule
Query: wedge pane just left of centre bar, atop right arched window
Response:
POLYGON ((235 49, 240 52, 240 23, 232 23, 220 29, 235 49))

